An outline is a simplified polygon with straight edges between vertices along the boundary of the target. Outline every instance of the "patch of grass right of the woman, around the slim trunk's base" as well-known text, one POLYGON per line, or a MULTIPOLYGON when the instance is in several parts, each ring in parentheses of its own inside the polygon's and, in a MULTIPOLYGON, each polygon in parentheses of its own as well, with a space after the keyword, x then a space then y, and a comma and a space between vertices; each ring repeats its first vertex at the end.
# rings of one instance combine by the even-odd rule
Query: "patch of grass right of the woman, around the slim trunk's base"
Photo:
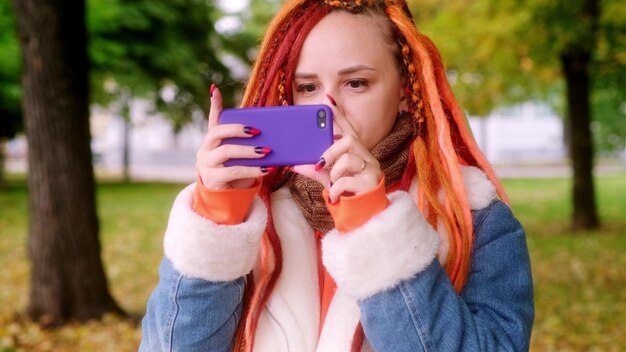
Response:
POLYGON ((626 176, 596 179, 603 226, 573 232, 569 179, 507 180, 527 232, 536 319, 532 350, 626 349, 626 176))

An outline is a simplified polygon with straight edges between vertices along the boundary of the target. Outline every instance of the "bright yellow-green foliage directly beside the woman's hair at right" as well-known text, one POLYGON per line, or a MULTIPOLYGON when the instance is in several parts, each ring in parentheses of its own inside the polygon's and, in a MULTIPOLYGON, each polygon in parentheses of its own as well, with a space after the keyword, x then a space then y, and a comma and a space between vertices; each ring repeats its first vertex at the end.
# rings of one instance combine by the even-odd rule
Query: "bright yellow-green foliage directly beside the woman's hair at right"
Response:
MULTIPOLYGON (((489 0, 415 1, 415 21, 433 39, 448 69, 450 83, 468 113, 484 116, 498 106, 545 96, 545 81, 558 72, 541 70, 538 77, 524 74, 534 68, 528 44, 517 38, 530 14, 511 1, 495 6, 489 0), (544 94, 542 94, 544 93, 544 94)), ((552 59, 554 61, 554 59, 552 59)), ((537 72, 535 72, 537 75, 537 72)))

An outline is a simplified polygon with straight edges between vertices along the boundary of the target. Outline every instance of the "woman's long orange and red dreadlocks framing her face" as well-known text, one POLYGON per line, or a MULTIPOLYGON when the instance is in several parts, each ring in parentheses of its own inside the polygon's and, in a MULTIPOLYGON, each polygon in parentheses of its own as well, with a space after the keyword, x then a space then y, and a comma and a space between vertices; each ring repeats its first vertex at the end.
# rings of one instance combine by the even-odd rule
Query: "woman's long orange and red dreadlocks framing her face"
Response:
MULTIPOLYGON (((483 170, 496 185, 500 198, 505 201, 507 198, 467 127, 446 79, 439 51, 428 37, 418 32, 406 1, 288 1, 269 25, 241 105, 293 104, 291 85, 304 40, 322 18, 335 10, 383 16, 396 34, 401 56, 398 61, 407 79, 409 113, 418 126, 411 145, 413 158, 409 158, 401 187, 408 189, 417 175, 418 206, 431 225, 444 226, 448 233, 450 250, 445 270, 454 289, 460 292, 469 273, 474 240, 460 165, 483 170)), ((268 209, 268 225, 261 242, 258 282, 254 282, 252 273, 247 277, 236 351, 252 350, 261 311, 282 270, 282 249, 273 224, 270 195, 284 184, 287 173, 285 168, 279 168, 262 181, 260 196, 268 209)))

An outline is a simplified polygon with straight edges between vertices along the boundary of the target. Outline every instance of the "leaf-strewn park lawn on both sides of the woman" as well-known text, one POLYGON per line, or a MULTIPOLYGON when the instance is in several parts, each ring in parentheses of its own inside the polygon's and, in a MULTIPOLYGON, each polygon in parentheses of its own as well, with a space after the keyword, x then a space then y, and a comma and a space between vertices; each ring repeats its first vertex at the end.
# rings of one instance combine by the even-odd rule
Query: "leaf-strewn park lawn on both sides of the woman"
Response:
MULTIPOLYGON (((597 178, 603 227, 569 229, 568 179, 510 179, 505 188, 528 235, 535 283, 532 351, 626 348, 626 176, 597 178)), ((20 179, 0 190, 0 352, 136 351, 138 318, 157 281, 162 236, 180 184, 101 183, 98 211, 109 286, 133 319, 42 330, 25 318, 27 199, 20 179)))

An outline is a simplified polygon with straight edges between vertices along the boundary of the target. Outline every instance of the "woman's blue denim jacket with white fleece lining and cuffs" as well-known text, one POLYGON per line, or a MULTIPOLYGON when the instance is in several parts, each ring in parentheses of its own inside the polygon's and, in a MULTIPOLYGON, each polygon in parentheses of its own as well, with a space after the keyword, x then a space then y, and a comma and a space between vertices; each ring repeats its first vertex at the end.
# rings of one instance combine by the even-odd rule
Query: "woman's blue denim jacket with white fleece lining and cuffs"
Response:
MULTIPOLYGON (((468 193, 472 193, 472 183, 466 180, 466 186, 469 189, 468 193)), ((382 214, 381 217, 371 220, 374 225, 378 223, 377 226, 370 226, 369 223, 364 225, 366 228, 369 227, 369 234, 354 233, 343 237, 335 236, 334 239, 332 234, 327 235, 330 239, 324 243, 323 251, 324 256, 326 252, 329 253, 330 259, 325 257, 324 265, 335 278, 338 291, 331 303, 326 321, 334 319, 333 309, 336 308, 337 322, 325 322, 326 331, 322 331, 319 338, 318 331, 307 332, 317 329, 318 322, 315 319, 319 319, 319 313, 306 315, 308 306, 312 307, 309 309, 311 312, 319 310, 317 302, 311 299, 307 301, 305 297, 308 297, 307 292, 313 287, 306 287, 306 273, 309 270, 306 268, 314 262, 311 258, 298 255, 296 259, 300 264, 296 264, 295 260, 292 263, 301 267, 295 270, 292 276, 302 276, 304 287, 301 291, 281 295, 281 285, 277 284, 278 293, 273 294, 276 298, 270 299, 265 314, 259 321, 255 351, 349 350, 351 341, 341 340, 342 329, 345 330, 345 336, 351 337, 354 324, 359 321, 366 338, 363 350, 395 352, 529 349, 534 319, 530 260, 524 230, 508 206, 494 199, 491 193, 490 196, 485 196, 474 192, 474 196, 482 198, 478 202, 480 206, 472 207, 475 209, 472 211, 475 240, 470 274, 463 290, 457 294, 440 263, 445 262, 445 253, 442 256, 441 248, 446 244, 440 241, 440 238, 444 237, 426 236, 420 238, 416 245, 410 243, 406 245, 407 240, 402 238, 401 234, 403 229, 409 233, 428 233, 432 230, 426 229, 425 221, 416 223, 413 227, 411 224, 393 221, 394 217, 406 216, 402 214, 403 211, 411 214, 416 211, 416 208, 410 206, 406 208, 400 206, 406 202, 406 192, 396 193, 399 194, 390 195, 392 204, 383 212, 393 216, 385 218, 386 214, 382 214), (375 245, 367 242, 365 249, 362 244, 358 244, 361 247, 356 247, 357 250, 352 252, 350 248, 353 247, 350 246, 353 244, 332 243, 332 241, 345 242, 344 238, 349 237, 352 239, 362 237, 368 241, 367 236, 376 237, 383 232, 389 232, 392 236, 389 238, 392 239, 400 237, 399 243, 405 243, 405 246, 409 247, 409 250, 405 251, 406 254, 390 255, 398 252, 398 247, 383 248, 387 246, 387 242, 393 242, 389 238, 383 238, 375 245), (413 247, 427 249, 412 252, 413 247), (428 248, 435 250, 433 252, 428 248), (385 254, 386 250, 388 254, 385 254), (359 263, 360 257, 355 257, 353 253, 363 251, 371 252, 368 253, 370 260, 359 263), (333 261, 333 255, 339 259, 333 261), (409 259, 402 258, 403 256, 409 259), (420 259, 413 260, 413 257, 420 259), (341 258, 348 259, 338 264, 341 258), (381 262, 384 265, 381 265, 381 262), (411 269, 406 270, 406 267, 411 269), (356 279, 353 279, 354 277, 356 279), (333 304, 338 308, 333 307, 333 304), (304 320, 302 317, 309 318, 304 320), (313 321, 309 324, 311 326, 307 325, 308 320, 313 321), (347 328, 344 329, 343 326, 347 328)), ((283 193, 283 196, 288 197, 286 193, 283 193)), ((472 197, 472 194, 469 197, 472 197)), ((189 197, 177 202, 189 203, 189 197)), ((279 214, 276 210, 281 209, 273 207, 274 214, 279 214)), ((173 226, 173 221, 180 218, 173 215, 170 217, 168 225, 170 227, 173 226)), ((254 216, 250 215, 251 218, 254 216)), ((277 215, 275 222, 278 221, 276 217, 277 215)), ((293 221, 296 222, 295 228, 303 226, 302 223, 298 223, 301 220, 293 221)), ((240 230, 242 233, 254 232, 252 227, 240 230)), ((259 225, 256 224, 256 227, 259 225)), ((277 224, 279 233, 281 228, 277 224)), ((304 229, 303 231, 307 232, 304 229)), ((304 241, 303 239, 309 235, 307 233, 304 237, 297 237, 294 243, 304 241)), ((202 265, 186 266, 183 261, 183 264, 176 264, 179 255, 176 251, 168 252, 167 236, 166 256, 159 272, 160 280, 148 301, 143 320, 140 351, 232 351, 234 334, 242 311, 244 279, 241 274, 249 272, 248 267, 254 267, 254 262, 250 261, 248 267, 238 269, 240 274, 237 274, 237 270, 231 270, 232 272, 226 276, 222 272, 217 276, 206 275, 202 269, 195 269, 199 266, 211 266, 212 263, 203 262, 202 265)), ((244 243, 254 241, 258 241, 258 238, 251 236, 246 238, 244 243)), ((291 248, 289 241, 288 237, 281 238, 281 242, 285 242, 283 250, 286 261, 290 260, 287 256, 291 248)), ((193 251, 194 244, 197 245, 192 243, 190 247, 181 249, 180 253, 193 251)), ((210 246, 219 247, 222 253, 220 258, 213 260, 236 262, 239 257, 236 253, 231 256, 231 253, 228 253, 230 249, 224 249, 219 243, 210 243, 210 246)), ((256 250, 258 247, 252 246, 248 253, 255 253, 256 250)), ((232 269, 230 263, 227 267, 229 270, 232 269)), ((316 271, 311 272, 309 276, 314 278, 316 271)), ((283 275, 289 277, 290 273, 286 272, 283 275)), ((289 284, 289 286, 298 285, 289 284)), ((310 296, 318 295, 318 292, 314 292, 310 296)))

